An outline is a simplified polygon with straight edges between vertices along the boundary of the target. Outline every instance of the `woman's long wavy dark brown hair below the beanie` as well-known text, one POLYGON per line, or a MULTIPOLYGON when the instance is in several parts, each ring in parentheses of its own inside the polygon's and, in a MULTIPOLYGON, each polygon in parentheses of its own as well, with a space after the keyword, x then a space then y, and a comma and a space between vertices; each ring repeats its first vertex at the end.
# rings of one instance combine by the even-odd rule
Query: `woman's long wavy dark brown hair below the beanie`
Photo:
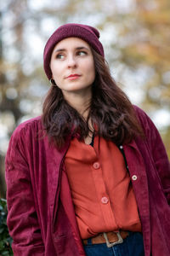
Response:
POLYGON ((111 140, 116 145, 129 143, 133 137, 143 137, 132 103, 112 79, 105 59, 93 48, 95 80, 92 84, 92 99, 88 119, 72 108, 58 86, 51 86, 42 106, 42 125, 48 137, 54 139, 58 148, 65 145, 68 136, 78 134, 82 140, 89 131, 111 140), (93 129, 89 127, 89 119, 93 129), (97 127, 97 129, 96 129, 97 127))

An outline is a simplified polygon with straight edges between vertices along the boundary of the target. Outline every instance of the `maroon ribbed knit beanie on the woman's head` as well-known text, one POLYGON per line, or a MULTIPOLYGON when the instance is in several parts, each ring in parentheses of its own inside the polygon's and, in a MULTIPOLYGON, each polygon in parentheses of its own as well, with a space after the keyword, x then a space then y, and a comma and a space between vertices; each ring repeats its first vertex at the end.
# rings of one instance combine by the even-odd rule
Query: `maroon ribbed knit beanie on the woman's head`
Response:
POLYGON ((68 23, 59 28, 52 34, 45 45, 43 52, 43 67, 48 79, 52 78, 51 68, 49 67, 53 49, 59 41, 65 38, 81 38, 96 50, 99 55, 104 56, 104 49, 99 42, 99 31, 93 26, 76 23, 68 23))

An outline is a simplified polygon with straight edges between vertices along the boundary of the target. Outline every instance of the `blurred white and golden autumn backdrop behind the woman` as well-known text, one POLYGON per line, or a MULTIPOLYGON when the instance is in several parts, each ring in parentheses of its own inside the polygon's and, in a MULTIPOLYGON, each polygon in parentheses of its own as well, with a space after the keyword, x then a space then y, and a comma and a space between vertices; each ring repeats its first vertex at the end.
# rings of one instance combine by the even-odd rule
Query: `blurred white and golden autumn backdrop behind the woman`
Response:
POLYGON ((1 0, 0 197, 9 137, 20 122, 41 114, 50 86, 44 44, 67 22, 99 29, 112 76, 154 120, 170 155, 169 0, 1 0))

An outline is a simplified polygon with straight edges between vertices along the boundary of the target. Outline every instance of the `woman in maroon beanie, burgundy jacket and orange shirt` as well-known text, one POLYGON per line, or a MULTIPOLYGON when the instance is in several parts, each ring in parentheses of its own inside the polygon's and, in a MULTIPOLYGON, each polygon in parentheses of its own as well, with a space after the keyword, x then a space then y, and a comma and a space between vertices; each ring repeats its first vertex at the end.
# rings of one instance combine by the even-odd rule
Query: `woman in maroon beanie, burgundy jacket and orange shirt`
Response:
POLYGON ((42 116, 16 128, 6 156, 14 255, 169 255, 167 154, 111 79, 99 32, 60 26, 44 70, 42 116))

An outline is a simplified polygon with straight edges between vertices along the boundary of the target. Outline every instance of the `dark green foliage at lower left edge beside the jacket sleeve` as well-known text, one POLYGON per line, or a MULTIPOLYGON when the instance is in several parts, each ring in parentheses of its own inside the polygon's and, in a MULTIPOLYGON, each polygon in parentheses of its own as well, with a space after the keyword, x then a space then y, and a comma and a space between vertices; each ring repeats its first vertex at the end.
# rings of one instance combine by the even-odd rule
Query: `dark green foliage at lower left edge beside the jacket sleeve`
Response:
POLYGON ((12 238, 8 235, 7 227, 7 201, 0 199, 0 255, 11 256, 12 238))

